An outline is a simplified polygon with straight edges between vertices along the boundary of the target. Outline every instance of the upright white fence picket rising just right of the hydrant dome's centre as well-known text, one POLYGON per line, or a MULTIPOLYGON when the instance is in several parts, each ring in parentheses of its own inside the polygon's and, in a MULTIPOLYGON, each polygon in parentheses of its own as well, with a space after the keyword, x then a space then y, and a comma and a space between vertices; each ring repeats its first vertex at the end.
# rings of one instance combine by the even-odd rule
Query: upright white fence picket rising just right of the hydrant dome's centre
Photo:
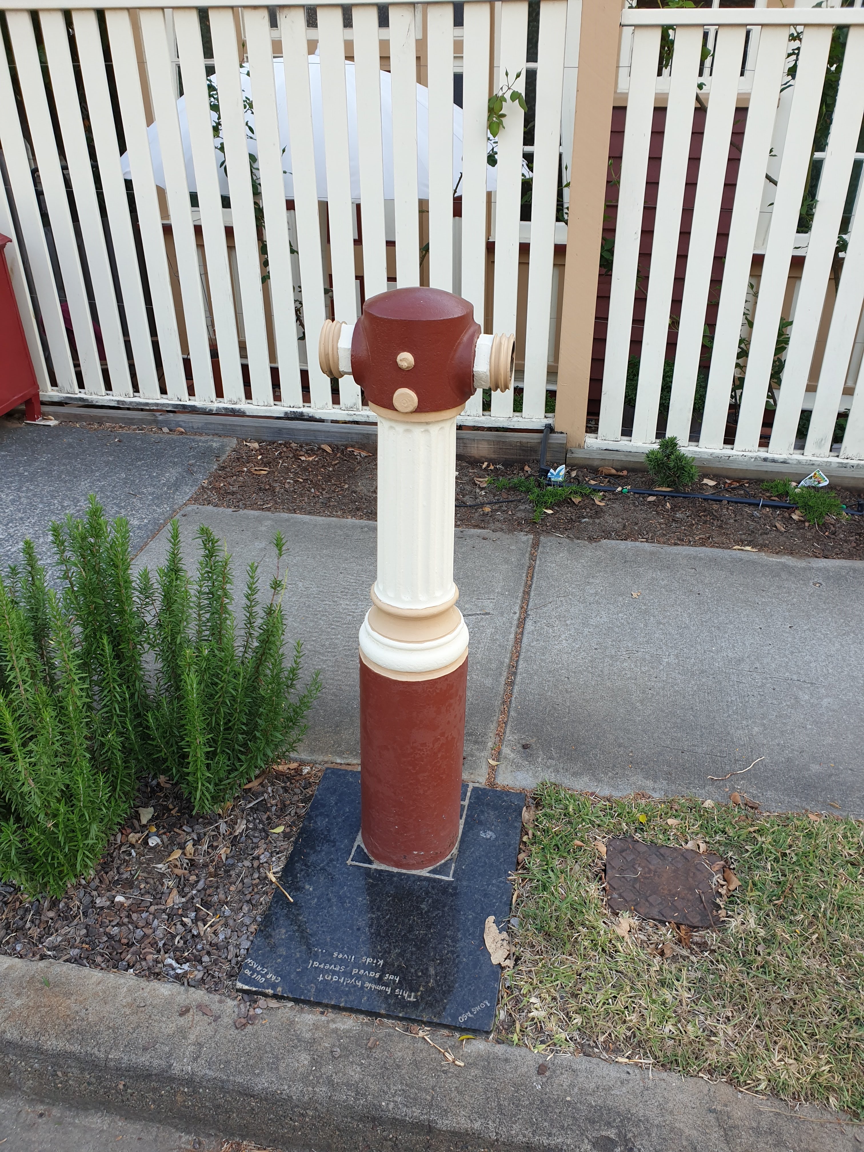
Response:
POLYGON ((453 291, 453 5, 426 9, 429 282, 453 291))

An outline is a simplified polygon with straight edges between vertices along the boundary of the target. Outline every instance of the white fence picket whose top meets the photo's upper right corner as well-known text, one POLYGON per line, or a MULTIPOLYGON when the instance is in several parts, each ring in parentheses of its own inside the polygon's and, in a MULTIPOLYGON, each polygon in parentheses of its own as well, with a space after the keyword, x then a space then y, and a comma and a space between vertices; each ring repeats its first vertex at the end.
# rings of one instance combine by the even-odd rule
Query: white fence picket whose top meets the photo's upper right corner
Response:
MULTIPOLYGON (((770 450, 775 453, 788 453, 795 447, 801 404, 810 377, 813 348, 819 334, 823 304, 834 260, 834 247, 840 232, 858 132, 864 116, 862 75, 864 75, 864 28, 850 28, 831 122, 831 136, 819 180, 808 258, 804 262, 795 306, 795 323, 791 327, 774 426, 771 432, 770 450)), ((846 378, 846 372, 842 373, 842 378, 846 378)), ((834 415, 836 416, 836 411, 834 415)))

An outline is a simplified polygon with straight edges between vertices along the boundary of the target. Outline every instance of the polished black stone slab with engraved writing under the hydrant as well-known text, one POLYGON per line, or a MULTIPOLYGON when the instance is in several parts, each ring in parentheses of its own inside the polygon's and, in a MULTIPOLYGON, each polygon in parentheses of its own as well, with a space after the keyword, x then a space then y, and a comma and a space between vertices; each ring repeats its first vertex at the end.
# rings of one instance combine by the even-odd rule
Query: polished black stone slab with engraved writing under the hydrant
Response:
POLYGON ((486 917, 510 914, 522 793, 462 786, 455 858, 427 873, 357 852, 359 773, 327 768, 237 987, 380 1016, 488 1032, 501 969, 486 917), (357 866, 357 865, 361 866, 357 866))

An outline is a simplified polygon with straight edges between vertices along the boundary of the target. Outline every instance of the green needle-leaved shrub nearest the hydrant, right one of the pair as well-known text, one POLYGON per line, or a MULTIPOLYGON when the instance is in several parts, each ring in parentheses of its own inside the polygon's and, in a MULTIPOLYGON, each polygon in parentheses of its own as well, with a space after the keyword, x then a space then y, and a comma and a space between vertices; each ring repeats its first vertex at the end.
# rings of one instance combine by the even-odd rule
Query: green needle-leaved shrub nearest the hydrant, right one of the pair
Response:
POLYGON ((320 682, 314 673, 305 689, 297 690, 300 642, 291 662, 285 664, 281 533, 273 540, 279 563, 263 608, 257 564, 248 568, 240 637, 230 607, 230 556, 209 528, 198 529, 198 541, 202 554, 191 579, 173 521, 167 562, 156 584, 146 569, 142 571, 138 596, 157 662, 150 730, 168 774, 195 812, 203 813, 225 804, 297 746, 320 682))

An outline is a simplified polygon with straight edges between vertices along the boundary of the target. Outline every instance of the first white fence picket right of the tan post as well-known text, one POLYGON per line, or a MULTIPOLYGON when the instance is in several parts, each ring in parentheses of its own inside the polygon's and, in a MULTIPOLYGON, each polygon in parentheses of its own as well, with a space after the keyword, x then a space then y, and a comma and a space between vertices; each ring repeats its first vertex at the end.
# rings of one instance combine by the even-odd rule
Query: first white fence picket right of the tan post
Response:
POLYGON ((619 181, 615 222, 615 260, 612 265, 609 319, 606 327, 606 359, 598 435, 621 439, 627 362, 630 355, 634 294, 639 271, 639 242, 645 202, 651 123, 654 115, 657 61, 660 29, 637 28, 632 37, 632 62, 624 126, 624 151, 619 181))

